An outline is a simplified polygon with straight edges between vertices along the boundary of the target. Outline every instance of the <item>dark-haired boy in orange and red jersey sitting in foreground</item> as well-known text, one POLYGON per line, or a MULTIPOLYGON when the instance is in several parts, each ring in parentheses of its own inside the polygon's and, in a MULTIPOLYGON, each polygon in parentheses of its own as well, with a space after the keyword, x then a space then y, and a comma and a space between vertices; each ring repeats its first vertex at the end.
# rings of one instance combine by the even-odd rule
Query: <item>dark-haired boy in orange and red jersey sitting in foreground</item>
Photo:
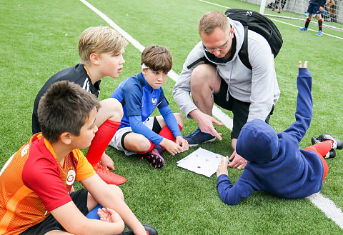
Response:
POLYGON ((94 95, 69 81, 42 96, 41 133, 0 172, 0 234, 120 234, 125 223, 146 235, 121 189, 102 181, 79 150, 94 139, 99 107, 94 95), (84 189, 74 191, 74 181, 84 189), (101 220, 86 218, 99 203, 101 220))

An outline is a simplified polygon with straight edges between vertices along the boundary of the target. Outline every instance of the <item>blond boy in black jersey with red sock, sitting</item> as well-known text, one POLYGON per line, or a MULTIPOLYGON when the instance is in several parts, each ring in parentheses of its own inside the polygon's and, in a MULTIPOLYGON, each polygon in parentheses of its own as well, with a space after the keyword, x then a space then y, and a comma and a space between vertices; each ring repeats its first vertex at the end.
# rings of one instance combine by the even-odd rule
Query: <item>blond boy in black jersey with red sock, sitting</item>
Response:
MULTIPOLYGON (((32 114, 32 134, 41 132, 37 118, 38 104, 51 84, 56 81, 71 81, 99 97, 101 79, 104 76, 119 76, 125 63, 123 55, 126 45, 126 39, 109 27, 97 26, 84 30, 79 38, 81 63, 51 76, 37 94, 32 114)), ((119 127, 123 109, 116 99, 104 99, 100 104, 96 114, 96 126, 99 130, 91 141, 86 158, 107 184, 124 184, 126 179, 123 176, 109 171, 114 170, 114 163, 104 152, 119 127)))

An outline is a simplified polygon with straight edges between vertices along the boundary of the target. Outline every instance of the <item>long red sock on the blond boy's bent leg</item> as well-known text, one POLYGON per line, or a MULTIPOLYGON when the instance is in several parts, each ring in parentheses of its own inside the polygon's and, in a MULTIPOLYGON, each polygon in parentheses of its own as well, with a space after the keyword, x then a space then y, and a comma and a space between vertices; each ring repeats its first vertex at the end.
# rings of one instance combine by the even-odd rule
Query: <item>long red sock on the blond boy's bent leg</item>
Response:
POLYGON ((88 159, 91 165, 97 164, 102 154, 109 145, 109 141, 113 138, 114 134, 116 134, 116 130, 119 128, 120 121, 105 121, 96 131, 96 134, 91 141, 91 146, 86 154, 86 159, 88 159))

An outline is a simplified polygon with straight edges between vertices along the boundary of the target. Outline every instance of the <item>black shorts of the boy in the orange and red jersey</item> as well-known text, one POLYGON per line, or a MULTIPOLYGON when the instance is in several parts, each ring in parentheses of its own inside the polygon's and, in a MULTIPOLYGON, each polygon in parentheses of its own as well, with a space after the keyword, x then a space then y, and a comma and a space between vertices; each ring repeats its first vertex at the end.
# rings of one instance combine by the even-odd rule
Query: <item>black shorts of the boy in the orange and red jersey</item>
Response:
MULTIPOLYGON (((82 214, 86 216, 88 214, 88 207, 87 207, 87 194, 88 191, 86 189, 80 189, 79 191, 74 191, 70 194, 71 199, 74 201, 76 207, 81 211, 82 214)), ((66 231, 61 224, 54 218, 54 216, 49 215, 46 217, 44 221, 41 223, 36 224, 35 226, 31 226, 31 228, 26 229, 26 231, 22 232, 21 235, 43 235, 49 231, 59 230, 59 231, 66 231)))

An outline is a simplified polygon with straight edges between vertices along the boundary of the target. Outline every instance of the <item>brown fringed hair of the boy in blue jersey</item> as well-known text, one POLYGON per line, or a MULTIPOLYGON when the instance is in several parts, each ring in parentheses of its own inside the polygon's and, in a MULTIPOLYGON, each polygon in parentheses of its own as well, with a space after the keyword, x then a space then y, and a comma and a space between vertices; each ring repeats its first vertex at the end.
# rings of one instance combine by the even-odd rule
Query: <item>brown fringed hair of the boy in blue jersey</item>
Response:
POLYGON ((141 53, 141 64, 145 64, 152 71, 162 70, 168 73, 173 66, 173 57, 163 46, 146 46, 141 53))

